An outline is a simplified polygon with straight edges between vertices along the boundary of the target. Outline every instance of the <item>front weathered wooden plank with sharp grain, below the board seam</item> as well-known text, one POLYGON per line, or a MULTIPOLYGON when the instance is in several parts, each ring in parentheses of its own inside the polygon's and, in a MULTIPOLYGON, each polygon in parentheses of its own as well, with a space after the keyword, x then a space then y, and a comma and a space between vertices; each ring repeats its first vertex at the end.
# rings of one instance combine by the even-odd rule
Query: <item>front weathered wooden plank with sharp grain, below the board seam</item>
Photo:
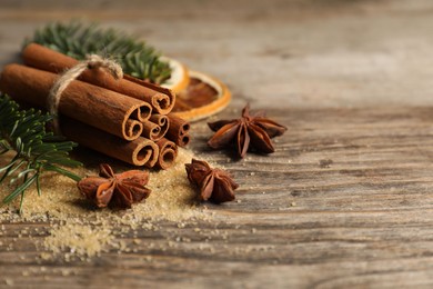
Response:
MULTIPOLYGON (((221 286, 221 278, 226 287, 431 285, 433 182, 424 152, 433 148, 433 131, 427 111, 272 110, 290 127, 272 157, 226 162, 225 153, 194 142, 194 150, 224 165, 241 185, 241 202, 209 206, 214 223, 179 228, 162 222, 158 232, 119 233, 134 251, 111 251, 89 262, 40 259, 34 243, 49 225, 34 225, 29 238, 19 237, 28 223, 6 223, 0 268, 21 286, 71 280, 77 287, 208 287, 221 286), (322 158, 332 163, 321 166, 322 158), (142 242, 135 245, 135 238, 142 242)), ((195 123, 193 132, 197 140, 210 133, 204 123, 195 123)))

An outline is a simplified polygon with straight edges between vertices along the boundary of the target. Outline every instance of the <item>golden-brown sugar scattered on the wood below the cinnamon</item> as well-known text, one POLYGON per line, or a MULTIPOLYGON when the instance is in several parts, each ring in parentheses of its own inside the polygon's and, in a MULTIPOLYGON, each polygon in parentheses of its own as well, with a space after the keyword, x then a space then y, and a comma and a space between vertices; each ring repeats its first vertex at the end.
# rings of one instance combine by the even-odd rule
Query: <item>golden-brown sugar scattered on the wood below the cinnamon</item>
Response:
MULTIPOLYGON (((41 260, 53 260, 62 255, 64 261, 70 262, 79 258, 90 260, 110 248, 118 252, 131 251, 139 246, 140 240, 127 243, 118 240, 121 236, 128 237, 137 229, 158 231, 159 220, 172 221, 179 228, 184 228, 192 220, 211 220, 212 215, 205 207, 197 202, 197 191, 189 183, 184 163, 191 162, 194 155, 180 148, 173 167, 168 170, 150 171, 148 188, 152 190, 144 202, 133 205, 129 210, 113 211, 97 209, 84 200, 74 181, 71 179, 46 172, 41 178, 42 196, 38 196, 36 188, 29 188, 23 203, 23 213, 16 213, 19 200, 0 208, 0 221, 3 222, 42 222, 49 223, 49 229, 34 229, 34 233, 44 236, 41 260), (120 228, 120 231, 119 231, 120 228)), ((4 159, 0 159, 4 162, 4 159)), ((130 168, 125 167, 123 170, 130 168)), ((72 169, 79 176, 95 176, 97 169, 72 169)), ((121 171, 118 169, 117 171, 121 171)), ((7 182, 0 183, 0 198, 4 198, 11 188, 7 182)), ((0 232, 4 232, 2 225, 0 232)), ((19 233, 28 237, 30 228, 19 233)), ((137 232, 135 235, 137 236, 137 232)), ((182 239, 181 239, 182 240, 182 239)), ((187 240, 187 239, 185 239, 187 240)), ((8 247, 8 250, 13 248, 8 247)))

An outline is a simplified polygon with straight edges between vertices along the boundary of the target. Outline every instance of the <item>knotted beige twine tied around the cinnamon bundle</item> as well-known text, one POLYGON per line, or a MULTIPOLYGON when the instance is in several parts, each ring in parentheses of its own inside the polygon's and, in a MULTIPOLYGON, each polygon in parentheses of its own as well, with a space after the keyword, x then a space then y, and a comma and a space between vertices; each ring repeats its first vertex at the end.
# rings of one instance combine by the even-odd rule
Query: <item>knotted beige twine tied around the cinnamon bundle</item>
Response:
POLYGON ((101 58, 98 54, 91 54, 87 57, 87 60, 80 61, 77 66, 68 69, 52 86, 48 96, 48 109, 53 116, 52 126, 57 134, 61 134, 59 124, 59 103, 62 92, 68 86, 79 78, 87 69, 105 69, 114 79, 123 78, 123 71, 119 63, 111 59, 101 58))

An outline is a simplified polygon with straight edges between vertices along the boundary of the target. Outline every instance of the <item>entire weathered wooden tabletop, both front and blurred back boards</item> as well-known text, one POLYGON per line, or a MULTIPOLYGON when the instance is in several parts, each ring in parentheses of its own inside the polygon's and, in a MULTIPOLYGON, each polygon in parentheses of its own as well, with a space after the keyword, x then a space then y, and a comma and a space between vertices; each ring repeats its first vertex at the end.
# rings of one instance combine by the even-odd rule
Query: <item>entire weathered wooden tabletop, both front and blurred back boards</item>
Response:
POLYGON ((138 33, 220 78, 234 97, 221 118, 249 102, 289 130, 275 153, 226 162, 193 124, 191 149, 241 185, 240 202, 210 206, 218 221, 202 223, 223 235, 167 222, 150 237, 192 243, 62 263, 38 259, 31 236, 6 250, 20 226, 6 222, 1 288, 433 287, 431 1, 3 0, 0 66, 37 27, 69 18, 138 33))

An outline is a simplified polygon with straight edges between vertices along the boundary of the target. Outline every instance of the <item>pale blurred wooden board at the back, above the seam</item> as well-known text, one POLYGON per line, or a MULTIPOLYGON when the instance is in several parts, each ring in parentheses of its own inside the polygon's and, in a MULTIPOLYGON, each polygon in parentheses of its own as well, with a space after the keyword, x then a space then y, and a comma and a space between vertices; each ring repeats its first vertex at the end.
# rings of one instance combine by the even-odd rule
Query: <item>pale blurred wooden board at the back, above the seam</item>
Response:
POLYGON ((433 104, 429 0, 0 0, 0 66, 49 21, 124 30, 261 107, 433 104))

